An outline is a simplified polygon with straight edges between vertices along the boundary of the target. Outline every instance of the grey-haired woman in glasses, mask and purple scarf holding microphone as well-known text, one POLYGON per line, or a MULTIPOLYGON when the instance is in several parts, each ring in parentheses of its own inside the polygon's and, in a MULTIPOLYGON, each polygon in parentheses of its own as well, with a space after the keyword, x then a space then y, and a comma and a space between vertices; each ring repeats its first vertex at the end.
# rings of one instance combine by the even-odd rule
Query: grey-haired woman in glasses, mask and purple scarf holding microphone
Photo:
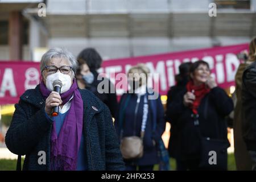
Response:
POLYGON ((23 170, 124 168, 110 111, 93 93, 77 87, 76 69, 70 52, 50 49, 40 62, 40 84, 15 105, 6 145, 14 154, 26 155, 23 170), (56 80, 60 94, 53 91, 56 80), (53 117, 56 106, 59 112, 53 117))

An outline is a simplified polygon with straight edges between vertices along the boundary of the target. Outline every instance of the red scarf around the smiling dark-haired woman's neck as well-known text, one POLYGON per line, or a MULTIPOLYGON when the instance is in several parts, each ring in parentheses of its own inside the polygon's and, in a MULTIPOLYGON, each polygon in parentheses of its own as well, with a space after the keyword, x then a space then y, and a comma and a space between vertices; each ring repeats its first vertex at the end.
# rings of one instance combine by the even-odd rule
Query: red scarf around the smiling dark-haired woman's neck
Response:
POLYGON ((210 89, 207 88, 207 86, 205 84, 201 84, 200 86, 195 86, 193 81, 189 81, 187 83, 187 90, 188 92, 192 92, 193 90, 193 94, 196 96, 195 101, 193 102, 193 104, 190 106, 190 108, 192 109, 194 114, 197 114, 197 109, 200 105, 201 99, 208 93, 210 92, 210 89))

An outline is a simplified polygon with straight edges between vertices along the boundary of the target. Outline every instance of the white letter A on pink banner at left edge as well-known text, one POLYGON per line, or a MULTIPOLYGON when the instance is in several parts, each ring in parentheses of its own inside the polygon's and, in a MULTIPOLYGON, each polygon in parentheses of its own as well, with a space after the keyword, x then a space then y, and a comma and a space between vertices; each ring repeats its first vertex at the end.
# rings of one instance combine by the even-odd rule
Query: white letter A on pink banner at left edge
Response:
POLYGON ((0 90, 0 97, 5 97, 6 91, 9 90, 11 97, 17 97, 16 87, 13 78, 13 69, 5 68, 0 90))

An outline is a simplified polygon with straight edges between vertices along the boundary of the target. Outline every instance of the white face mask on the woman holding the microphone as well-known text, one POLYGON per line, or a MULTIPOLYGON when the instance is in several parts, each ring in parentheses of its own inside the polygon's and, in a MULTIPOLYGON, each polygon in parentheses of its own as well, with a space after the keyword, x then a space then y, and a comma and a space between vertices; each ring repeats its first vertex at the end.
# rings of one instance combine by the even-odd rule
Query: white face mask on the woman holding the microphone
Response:
POLYGON ((53 91, 53 81, 60 80, 62 82, 62 87, 60 89, 60 93, 66 92, 69 88, 71 88, 71 77, 69 75, 65 75, 60 72, 53 73, 46 77, 46 88, 50 91, 53 91))

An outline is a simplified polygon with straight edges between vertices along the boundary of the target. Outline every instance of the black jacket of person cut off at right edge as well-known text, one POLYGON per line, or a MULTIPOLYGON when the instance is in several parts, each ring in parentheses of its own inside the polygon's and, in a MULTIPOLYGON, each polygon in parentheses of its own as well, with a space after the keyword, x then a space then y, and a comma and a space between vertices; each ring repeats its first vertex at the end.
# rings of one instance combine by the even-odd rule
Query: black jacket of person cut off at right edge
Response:
POLYGON ((242 77, 242 135, 247 150, 256 151, 256 61, 242 77))

